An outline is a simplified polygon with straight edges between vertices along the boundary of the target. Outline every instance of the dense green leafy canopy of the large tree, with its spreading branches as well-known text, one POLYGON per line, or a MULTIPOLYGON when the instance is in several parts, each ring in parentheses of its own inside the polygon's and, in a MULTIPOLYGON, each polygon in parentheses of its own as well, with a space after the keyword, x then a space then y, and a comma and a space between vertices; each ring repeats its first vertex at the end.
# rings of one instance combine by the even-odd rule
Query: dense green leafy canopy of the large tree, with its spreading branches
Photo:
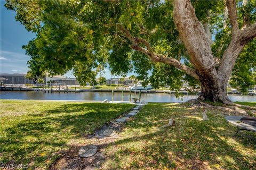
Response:
MULTIPOLYGON (((122 76, 134 70, 139 81, 151 82, 155 88, 169 85, 180 89, 184 82, 202 85, 198 75, 204 71, 193 57, 194 49, 186 44, 180 22, 186 19, 174 13, 179 7, 175 2, 7 0, 5 6, 17 12, 16 19, 28 31, 36 33, 36 38, 23 46, 31 56, 29 68, 35 72, 54 75, 74 70, 83 82, 95 79, 109 66, 112 74, 122 76)), ((212 54, 209 65, 216 70, 223 67, 220 61, 226 60, 223 56, 235 33, 239 29, 244 32, 245 38, 239 42, 245 48, 239 48, 242 52, 231 74, 232 80, 250 79, 256 69, 256 40, 245 31, 255 31, 256 1, 184 2, 191 3, 188 10, 193 14, 194 9, 203 25, 212 54)))

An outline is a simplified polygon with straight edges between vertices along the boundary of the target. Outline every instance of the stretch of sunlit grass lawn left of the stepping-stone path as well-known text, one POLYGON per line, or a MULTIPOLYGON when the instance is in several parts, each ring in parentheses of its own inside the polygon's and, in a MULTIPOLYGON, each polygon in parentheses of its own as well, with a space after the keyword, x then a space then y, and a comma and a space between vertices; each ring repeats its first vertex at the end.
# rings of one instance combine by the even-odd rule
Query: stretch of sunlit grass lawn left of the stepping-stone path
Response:
MULTIPOLYGON (((131 109, 130 104, 0 100, 0 162, 46 169, 60 150, 131 109)), ((84 142, 84 141, 83 141, 84 142)))

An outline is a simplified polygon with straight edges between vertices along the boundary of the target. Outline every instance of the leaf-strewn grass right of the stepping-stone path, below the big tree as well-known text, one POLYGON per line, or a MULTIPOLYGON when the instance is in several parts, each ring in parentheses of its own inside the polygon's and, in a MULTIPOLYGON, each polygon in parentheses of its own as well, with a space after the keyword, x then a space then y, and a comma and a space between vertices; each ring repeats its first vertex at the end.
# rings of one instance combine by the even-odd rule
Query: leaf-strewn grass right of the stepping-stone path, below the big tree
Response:
POLYGON ((232 135, 229 113, 179 104, 150 103, 129 121, 115 145, 105 150, 103 169, 254 169, 256 133, 232 135), (174 120, 173 126, 158 127, 174 120))

